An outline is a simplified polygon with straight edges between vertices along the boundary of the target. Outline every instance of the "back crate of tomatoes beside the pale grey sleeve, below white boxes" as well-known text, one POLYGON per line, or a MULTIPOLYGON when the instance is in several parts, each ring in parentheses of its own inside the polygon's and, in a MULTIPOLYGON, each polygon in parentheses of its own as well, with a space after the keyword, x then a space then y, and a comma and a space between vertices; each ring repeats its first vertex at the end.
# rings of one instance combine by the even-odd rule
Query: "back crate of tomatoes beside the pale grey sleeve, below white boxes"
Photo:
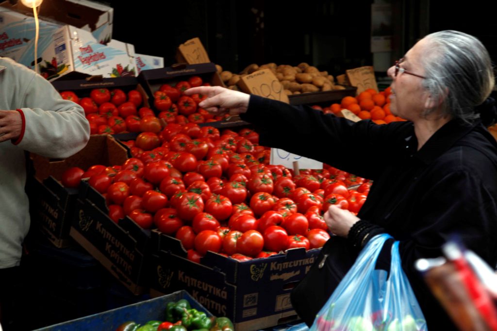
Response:
POLYGON ((64 99, 83 107, 91 134, 151 131, 151 126, 162 129, 157 118, 142 121, 155 114, 149 108, 147 94, 136 77, 92 77, 58 80, 52 84, 64 99))

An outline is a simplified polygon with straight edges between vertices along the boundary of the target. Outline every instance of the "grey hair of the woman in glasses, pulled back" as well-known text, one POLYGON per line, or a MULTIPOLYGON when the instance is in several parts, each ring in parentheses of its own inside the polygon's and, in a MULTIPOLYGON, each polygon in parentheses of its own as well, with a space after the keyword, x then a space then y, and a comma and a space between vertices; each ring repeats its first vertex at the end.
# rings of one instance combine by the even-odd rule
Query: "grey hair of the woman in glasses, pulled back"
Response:
POLYGON ((495 84, 485 46, 473 36, 452 30, 435 32, 425 39, 428 51, 421 60, 426 76, 423 87, 434 100, 442 102, 423 115, 440 107, 442 116, 465 121, 478 118, 474 109, 487 99, 495 84))

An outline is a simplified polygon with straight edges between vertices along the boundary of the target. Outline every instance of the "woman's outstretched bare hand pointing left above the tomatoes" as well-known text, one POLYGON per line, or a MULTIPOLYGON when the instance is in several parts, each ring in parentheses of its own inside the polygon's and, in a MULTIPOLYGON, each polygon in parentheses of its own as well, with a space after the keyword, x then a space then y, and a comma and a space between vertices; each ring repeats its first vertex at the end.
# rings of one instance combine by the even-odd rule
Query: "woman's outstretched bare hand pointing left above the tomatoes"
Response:
POLYGON ((230 115, 245 113, 250 99, 250 95, 247 93, 230 90, 221 86, 192 87, 184 91, 184 94, 202 94, 207 96, 207 99, 199 103, 199 107, 215 115, 222 115, 228 112, 230 115))

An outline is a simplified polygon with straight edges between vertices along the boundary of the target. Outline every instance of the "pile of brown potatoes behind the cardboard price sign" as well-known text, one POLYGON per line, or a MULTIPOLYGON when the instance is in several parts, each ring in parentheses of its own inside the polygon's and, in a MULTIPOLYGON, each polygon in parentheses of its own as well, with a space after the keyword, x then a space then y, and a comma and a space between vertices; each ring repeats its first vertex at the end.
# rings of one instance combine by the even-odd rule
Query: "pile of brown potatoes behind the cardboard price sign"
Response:
POLYGON ((301 63, 298 66, 277 66, 275 63, 262 66, 252 64, 240 74, 223 70, 219 65, 216 66, 221 79, 232 90, 240 90, 237 83, 243 76, 261 69, 270 69, 283 85, 287 95, 345 89, 341 85, 334 84, 334 77, 328 74, 328 71, 319 71, 317 67, 310 66, 307 63, 301 63))

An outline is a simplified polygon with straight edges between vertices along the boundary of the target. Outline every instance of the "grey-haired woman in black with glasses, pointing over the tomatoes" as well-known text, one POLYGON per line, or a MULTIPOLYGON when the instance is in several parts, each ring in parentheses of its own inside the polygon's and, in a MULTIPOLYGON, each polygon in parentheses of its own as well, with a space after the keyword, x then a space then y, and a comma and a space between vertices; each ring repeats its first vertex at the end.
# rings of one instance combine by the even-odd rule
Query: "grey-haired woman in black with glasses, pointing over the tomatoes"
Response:
POLYGON ((442 255, 441 245, 457 233, 490 265, 497 263, 497 143, 485 128, 496 117, 487 100, 494 87, 492 64, 476 38, 442 31, 416 43, 388 74, 391 111, 407 122, 353 123, 221 87, 186 93, 208 95, 200 104, 208 111, 240 114, 260 132, 263 145, 374 180, 357 216, 335 206, 325 214, 337 237, 325 247, 331 252, 326 268, 312 272, 328 268, 335 279, 294 302, 306 323, 312 323, 358 251, 374 235, 388 233, 400 241, 403 268, 428 329, 452 330, 414 262, 442 255))

